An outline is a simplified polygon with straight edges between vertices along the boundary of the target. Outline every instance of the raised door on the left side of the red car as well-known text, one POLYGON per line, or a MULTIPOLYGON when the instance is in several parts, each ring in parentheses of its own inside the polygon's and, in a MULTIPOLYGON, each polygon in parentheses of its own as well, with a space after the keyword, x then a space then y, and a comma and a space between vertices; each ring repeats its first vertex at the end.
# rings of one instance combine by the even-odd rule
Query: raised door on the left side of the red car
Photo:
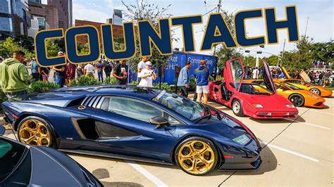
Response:
POLYGON ((242 80, 245 77, 245 70, 241 58, 228 60, 224 68, 226 88, 235 93, 239 91, 242 80))

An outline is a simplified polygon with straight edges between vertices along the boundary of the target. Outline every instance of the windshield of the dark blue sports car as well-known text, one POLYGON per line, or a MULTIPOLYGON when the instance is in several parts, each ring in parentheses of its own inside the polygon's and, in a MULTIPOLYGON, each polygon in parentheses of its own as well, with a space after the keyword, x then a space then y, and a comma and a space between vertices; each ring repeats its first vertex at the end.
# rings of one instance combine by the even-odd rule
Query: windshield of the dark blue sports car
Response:
POLYGON ((158 96, 153 98, 153 101, 170 108, 192 121, 203 117, 205 114, 205 109, 198 103, 173 93, 167 93, 166 91, 161 91, 158 96))

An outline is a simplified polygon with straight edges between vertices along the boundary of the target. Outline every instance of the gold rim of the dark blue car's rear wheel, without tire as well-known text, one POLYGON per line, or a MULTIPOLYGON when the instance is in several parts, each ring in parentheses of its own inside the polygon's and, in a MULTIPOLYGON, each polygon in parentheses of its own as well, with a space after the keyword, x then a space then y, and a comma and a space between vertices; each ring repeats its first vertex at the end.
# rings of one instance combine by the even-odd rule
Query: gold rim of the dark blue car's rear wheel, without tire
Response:
POLYGON ((39 120, 27 120, 18 132, 20 141, 30 145, 50 146, 50 132, 47 125, 39 120))

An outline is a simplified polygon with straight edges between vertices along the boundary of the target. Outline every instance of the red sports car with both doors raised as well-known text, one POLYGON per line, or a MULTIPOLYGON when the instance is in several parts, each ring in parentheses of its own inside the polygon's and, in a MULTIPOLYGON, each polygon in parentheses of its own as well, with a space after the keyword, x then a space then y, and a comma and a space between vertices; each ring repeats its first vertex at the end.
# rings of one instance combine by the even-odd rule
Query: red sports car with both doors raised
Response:
POLYGON ((209 82, 209 98, 232 108, 237 116, 294 118, 298 114, 297 108, 276 93, 268 63, 263 63, 265 87, 242 81, 245 71, 241 58, 228 60, 224 68, 225 80, 209 82))

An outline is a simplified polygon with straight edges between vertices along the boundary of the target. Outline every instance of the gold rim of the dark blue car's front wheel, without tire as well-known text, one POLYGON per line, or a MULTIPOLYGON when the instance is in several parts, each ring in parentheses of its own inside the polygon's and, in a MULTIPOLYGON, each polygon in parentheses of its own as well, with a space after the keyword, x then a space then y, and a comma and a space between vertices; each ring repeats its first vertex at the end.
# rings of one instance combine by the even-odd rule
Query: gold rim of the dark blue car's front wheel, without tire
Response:
POLYGON ((187 172, 204 174, 214 167, 214 150, 203 141, 189 141, 179 150, 178 162, 187 172))

